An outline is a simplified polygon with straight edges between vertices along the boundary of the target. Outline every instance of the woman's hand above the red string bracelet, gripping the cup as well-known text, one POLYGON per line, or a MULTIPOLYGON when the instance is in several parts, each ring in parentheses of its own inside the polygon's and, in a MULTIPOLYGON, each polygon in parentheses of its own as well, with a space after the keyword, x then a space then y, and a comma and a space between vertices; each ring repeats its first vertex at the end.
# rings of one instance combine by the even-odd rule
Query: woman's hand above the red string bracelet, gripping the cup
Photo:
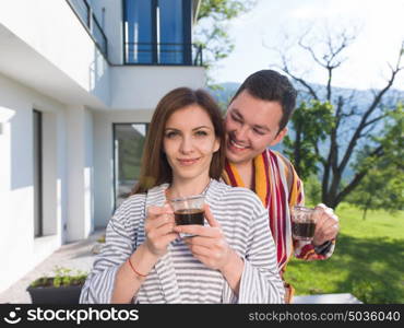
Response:
POLYGON ((147 208, 147 218, 144 223, 146 234, 145 246, 150 253, 162 257, 167 253, 167 246, 178 234, 174 232, 174 212, 169 204, 147 208))

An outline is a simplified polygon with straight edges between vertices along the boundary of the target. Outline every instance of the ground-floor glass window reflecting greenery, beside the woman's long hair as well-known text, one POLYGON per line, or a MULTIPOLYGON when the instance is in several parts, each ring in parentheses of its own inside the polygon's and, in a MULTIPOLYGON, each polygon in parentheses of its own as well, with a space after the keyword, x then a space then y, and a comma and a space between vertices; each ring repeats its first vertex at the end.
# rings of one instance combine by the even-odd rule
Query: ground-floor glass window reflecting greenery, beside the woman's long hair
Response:
POLYGON ((147 124, 114 125, 115 208, 130 195, 139 180, 147 124))

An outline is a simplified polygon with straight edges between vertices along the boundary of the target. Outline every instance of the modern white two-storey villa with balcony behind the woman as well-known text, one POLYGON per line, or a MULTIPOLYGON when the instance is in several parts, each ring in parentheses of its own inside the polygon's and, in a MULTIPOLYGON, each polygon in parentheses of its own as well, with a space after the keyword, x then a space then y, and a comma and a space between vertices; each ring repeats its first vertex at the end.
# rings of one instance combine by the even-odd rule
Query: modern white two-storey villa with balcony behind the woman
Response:
POLYGON ((0 292, 106 226, 158 99, 204 86, 199 4, 0 1, 0 292))

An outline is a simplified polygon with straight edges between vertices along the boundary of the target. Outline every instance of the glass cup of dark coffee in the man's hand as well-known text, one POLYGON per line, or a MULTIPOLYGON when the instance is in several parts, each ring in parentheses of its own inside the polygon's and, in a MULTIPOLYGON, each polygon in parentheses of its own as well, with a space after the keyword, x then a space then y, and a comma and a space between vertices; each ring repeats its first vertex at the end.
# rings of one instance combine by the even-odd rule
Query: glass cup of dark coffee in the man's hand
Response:
POLYGON ((312 241, 316 231, 316 210, 301 206, 292 208, 292 235, 295 239, 312 241))

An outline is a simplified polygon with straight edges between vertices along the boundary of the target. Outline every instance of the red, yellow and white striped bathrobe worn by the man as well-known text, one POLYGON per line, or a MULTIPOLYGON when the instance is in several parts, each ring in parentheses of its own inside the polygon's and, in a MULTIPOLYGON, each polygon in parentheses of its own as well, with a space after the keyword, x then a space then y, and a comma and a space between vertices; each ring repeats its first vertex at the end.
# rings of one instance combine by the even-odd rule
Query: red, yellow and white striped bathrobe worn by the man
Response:
MULTIPOLYGON (((281 272, 293 255, 304 260, 326 259, 332 256, 335 241, 317 251, 311 242, 294 241, 292 237, 290 208, 305 203, 302 181, 290 162, 278 152, 266 149, 253 160, 253 190, 268 209, 272 236, 276 244, 277 262, 281 272)), ((226 161, 224 180, 235 187, 243 183, 234 165, 226 161)))

